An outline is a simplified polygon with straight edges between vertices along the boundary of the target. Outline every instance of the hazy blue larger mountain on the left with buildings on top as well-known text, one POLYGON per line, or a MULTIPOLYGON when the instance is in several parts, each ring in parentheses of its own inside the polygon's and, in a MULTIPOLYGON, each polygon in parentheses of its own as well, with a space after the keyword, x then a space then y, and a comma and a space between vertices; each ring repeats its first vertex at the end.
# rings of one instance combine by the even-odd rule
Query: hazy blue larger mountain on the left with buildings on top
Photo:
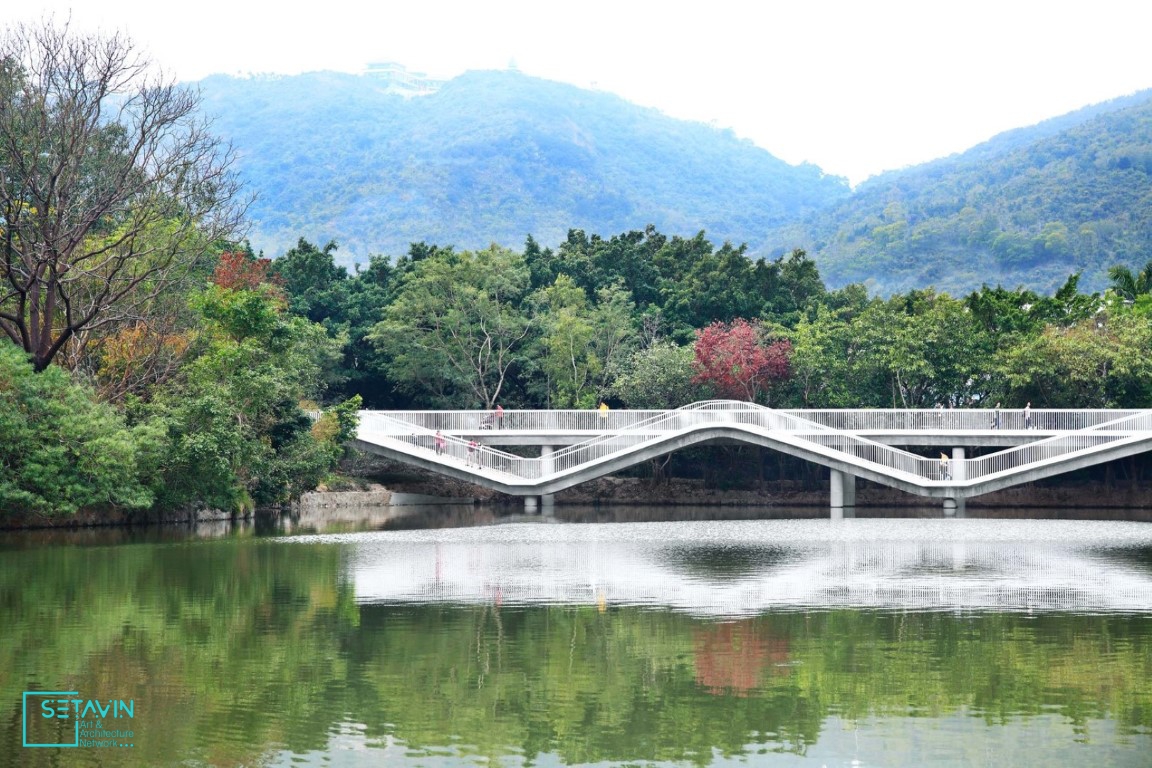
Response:
POLYGON ((250 239, 268 256, 300 237, 338 241, 347 263, 419 241, 554 246, 570 228, 646 225, 756 253, 778 245, 768 233, 850 193, 730 131, 516 71, 471 71, 418 96, 336 73, 197 85, 257 195, 250 239))

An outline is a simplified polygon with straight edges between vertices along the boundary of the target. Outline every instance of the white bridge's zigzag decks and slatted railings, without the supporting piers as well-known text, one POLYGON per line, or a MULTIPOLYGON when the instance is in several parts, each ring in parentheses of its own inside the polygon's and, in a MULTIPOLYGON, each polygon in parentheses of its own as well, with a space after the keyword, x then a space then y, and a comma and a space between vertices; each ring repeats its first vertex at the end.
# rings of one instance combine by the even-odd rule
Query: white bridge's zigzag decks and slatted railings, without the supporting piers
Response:
POLYGON ((1002 472, 1115 443, 1134 434, 1152 432, 1152 411, 1033 410, 1032 427, 1063 432, 1047 439, 979 458, 948 462, 948 477, 939 458, 924 457, 855 434, 882 431, 946 432, 996 428, 1024 429, 1023 411, 1007 410, 772 410, 736 401, 707 401, 673 411, 362 411, 359 436, 378 442, 397 441, 416 450, 437 451, 435 432, 442 438, 439 454, 478 471, 495 471, 507 479, 536 481, 563 473, 664 439, 704 426, 729 426, 748 432, 772 432, 793 444, 806 446, 828 456, 850 457, 886 476, 927 481, 976 481, 1002 472), (477 429, 538 433, 589 432, 594 436, 540 457, 524 457, 465 440, 453 433, 475 435, 477 429))

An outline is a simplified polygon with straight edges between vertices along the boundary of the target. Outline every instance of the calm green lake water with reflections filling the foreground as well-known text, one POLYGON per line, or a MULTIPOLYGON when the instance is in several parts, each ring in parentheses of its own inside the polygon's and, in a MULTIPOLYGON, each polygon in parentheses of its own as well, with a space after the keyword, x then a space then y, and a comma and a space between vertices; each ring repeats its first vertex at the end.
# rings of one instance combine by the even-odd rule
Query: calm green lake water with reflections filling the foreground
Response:
POLYGON ((813 514, 0 534, 0 766, 1152 765, 1152 525, 813 514))

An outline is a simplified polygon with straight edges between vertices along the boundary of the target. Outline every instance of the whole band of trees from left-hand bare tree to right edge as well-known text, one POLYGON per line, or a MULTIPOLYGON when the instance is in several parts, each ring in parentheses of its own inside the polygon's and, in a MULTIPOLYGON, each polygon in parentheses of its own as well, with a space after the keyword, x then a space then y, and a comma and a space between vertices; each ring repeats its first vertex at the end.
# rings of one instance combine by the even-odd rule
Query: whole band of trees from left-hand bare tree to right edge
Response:
POLYGON ((351 271, 335 241, 270 259, 195 91, 138 83, 119 37, 0 44, 0 517, 280 504, 339 471, 361 408, 1152 395, 1152 261, 1092 291, 1071 272, 1049 292, 880 296, 829 289, 802 249, 641 222, 518 250, 417 241, 351 271))

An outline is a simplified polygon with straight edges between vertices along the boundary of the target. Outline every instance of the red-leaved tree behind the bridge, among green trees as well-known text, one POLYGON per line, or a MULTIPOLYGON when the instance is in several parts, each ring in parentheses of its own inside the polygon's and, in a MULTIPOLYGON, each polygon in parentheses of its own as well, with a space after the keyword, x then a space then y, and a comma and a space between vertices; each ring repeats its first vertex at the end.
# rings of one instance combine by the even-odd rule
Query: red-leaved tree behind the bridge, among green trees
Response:
POLYGON ((788 378, 791 343, 768 341, 758 322, 713 322, 696 332, 697 383, 732 400, 767 403, 772 386, 788 378))

